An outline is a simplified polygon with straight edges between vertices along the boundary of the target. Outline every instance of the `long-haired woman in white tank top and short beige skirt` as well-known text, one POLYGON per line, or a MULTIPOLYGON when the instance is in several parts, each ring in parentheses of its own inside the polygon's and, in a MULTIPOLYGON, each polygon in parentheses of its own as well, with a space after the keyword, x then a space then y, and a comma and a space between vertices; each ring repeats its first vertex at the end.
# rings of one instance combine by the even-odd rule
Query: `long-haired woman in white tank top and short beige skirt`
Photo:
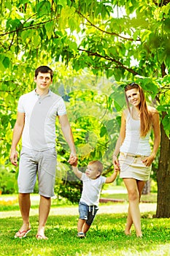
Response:
POLYGON ((125 235, 131 235, 134 223, 136 236, 142 237, 139 200, 145 181, 150 178, 151 165, 160 144, 159 115, 155 108, 147 106, 144 91, 136 83, 125 86, 125 99, 128 108, 122 114, 120 136, 112 161, 115 170, 120 170, 120 178, 123 178, 128 191, 125 235), (149 139, 152 129, 154 143, 151 152, 149 139))

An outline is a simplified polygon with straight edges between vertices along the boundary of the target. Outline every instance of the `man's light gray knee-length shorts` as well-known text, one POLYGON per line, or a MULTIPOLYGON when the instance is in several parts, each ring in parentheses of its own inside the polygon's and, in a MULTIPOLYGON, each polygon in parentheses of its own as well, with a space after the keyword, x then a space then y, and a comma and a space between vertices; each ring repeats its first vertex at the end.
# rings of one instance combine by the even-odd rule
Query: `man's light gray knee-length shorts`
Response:
POLYGON ((23 147, 20 153, 18 189, 20 193, 34 192, 38 172, 39 195, 53 197, 55 185, 56 151, 33 151, 23 147))

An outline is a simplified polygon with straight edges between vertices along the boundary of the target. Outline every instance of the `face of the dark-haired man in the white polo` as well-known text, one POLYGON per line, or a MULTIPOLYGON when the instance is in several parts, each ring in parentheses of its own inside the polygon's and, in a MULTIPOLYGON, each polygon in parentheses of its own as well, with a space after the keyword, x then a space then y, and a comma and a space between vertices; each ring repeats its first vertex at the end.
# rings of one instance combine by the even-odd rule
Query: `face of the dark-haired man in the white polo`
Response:
POLYGON ((38 91, 47 91, 52 83, 50 73, 41 73, 34 78, 34 82, 36 83, 36 89, 38 91))

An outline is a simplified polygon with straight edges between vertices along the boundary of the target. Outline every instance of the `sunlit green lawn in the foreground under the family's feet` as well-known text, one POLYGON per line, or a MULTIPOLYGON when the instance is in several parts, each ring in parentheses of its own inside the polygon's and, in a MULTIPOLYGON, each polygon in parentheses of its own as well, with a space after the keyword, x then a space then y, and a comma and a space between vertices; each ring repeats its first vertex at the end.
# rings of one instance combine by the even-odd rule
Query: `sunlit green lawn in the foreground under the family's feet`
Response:
MULTIPOLYGON (((113 206, 114 207, 114 206, 113 206)), ((125 236, 125 214, 98 214, 85 239, 77 238, 78 216, 50 216, 46 226, 48 241, 36 241, 38 217, 31 217, 31 232, 23 239, 14 238, 21 218, 0 219, 0 255, 169 255, 169 219, 152 219, 142 214, 143 238, 125 236)))

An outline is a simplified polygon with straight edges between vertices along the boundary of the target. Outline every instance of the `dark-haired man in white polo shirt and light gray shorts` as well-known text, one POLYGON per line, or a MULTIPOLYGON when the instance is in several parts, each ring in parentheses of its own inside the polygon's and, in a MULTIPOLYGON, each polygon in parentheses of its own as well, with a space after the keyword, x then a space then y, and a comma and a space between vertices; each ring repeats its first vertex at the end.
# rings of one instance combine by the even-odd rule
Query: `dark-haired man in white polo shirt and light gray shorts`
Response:
POLYGON ((18 117, 12 136, 10 160, 18 165, 18 142, 22 136, 22 150, 18 173, 19 206, 23 225, 15 238, 24 238, 31 230, 29 211, 30 193, 34 191, 36 173, 39 179, 39 227, 37 239, 47 239, 45 224, 50 212, 51 197, 55 184, 55 118, 58 116, 61 129, 71 151, 69 163, 77 162, 72 129, 66 116, 63 99, 50 91, 53 70, 47 66, 35 70, 36 89, 24 94, 18 102, 18 117))

